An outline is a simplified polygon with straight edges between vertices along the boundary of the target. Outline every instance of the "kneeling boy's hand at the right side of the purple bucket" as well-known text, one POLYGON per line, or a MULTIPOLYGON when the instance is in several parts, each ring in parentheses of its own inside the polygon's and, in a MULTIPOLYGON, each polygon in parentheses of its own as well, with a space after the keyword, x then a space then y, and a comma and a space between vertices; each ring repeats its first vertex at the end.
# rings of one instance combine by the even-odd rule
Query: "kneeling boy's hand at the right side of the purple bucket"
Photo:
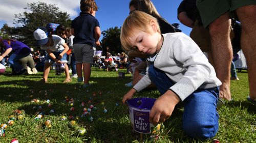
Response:
POLYGON ((155 101, 150 112, 150 122, 159 124, 167 120, 179 101, 180 98, 174 92, 168 90, 155 101))

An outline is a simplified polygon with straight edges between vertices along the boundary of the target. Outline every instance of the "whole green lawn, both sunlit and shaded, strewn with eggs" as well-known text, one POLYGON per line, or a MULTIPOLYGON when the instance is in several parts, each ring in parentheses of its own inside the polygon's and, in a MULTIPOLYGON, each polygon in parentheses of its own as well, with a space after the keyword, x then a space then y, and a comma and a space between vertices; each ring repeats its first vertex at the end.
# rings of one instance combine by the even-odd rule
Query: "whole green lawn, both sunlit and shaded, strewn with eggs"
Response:
MULTIPOLYGON (((125 70, 119 70, 125 71, 125 70)), ((131 81, 131 74, 125 74, 125 78, 118 78, 117 72, 106 72, 92 68, 91 87, 84 90, 82 84, 73 79, 71 83, 62 83, 64 74, 56 76, 54 71, 49 75, 49 83, 38 82, 42 72, 36 75, 11 76, 10 69, 4 75, 0 75, 0 123, 8 124, 8 116, 14 115, 15 109, 24 110, 24 120, 16 120, 13 126, 8 126, 6 136, 0 136, 0 142, 10 142, 16 138, 19 142, 140 142, 140 134, 133 132, 129 121, 129 110, 121 103, 122 96, 130 88, 124 86, 131 81), (93 96, 93 93, 96 96, 93 96), (99 94, 102 92, 102 95, 99 94), (68 103, 63 102, 65 97, 74 99, 75 111, 71 111, 68 103), (31 100, 39 99, 39 103, 31 100), (45 101, 49 99, 52 107, 48 107, 45 101), (83 107, 94 105, 97 110, 81 118, 83 107), (88 103, 91 101, 91 103, 88 103), (116 105, 118 104, 118 105, 116 105), (42 106, 45 112, 44 118, 35 121, 39 113, 33 107, 42 106), (104 113, 103 110, 108 112, 104 113), (50 110, 54 109, 54 113, 50 110), (69 120, 61 121, 61 116, 79 116, 75 119, 77 125, 69 126, 69 120), (93 117, 93 122, 89 120, 93 117), (45 121, 51 120, 52 127, 46 128, 45 121), (78 129, 84 127, 87 133, 78 135, 78 129)), ((248 90, 248 77, 244 71, 238 73, 239 81, 231 81, 231 94, 233 100, 227 102, 219 110, 219 132, 214 137, 221 142, 255 142, 256 140, 256 116, 255 105, 250 104, 246 97, 248 90)), ((256 87, 255 87, 256 88, 256 87)), ((135 97, 157 98, 159 92, 144 90, 135 97)), ((209 140, 196 140, 186 136, 182 129, 182 108, 178 108, 165 123, 160 131, 157 142, 212 142, 209 140)), ((150 135, 143 135, 144 142, 154 142, 150 135)))

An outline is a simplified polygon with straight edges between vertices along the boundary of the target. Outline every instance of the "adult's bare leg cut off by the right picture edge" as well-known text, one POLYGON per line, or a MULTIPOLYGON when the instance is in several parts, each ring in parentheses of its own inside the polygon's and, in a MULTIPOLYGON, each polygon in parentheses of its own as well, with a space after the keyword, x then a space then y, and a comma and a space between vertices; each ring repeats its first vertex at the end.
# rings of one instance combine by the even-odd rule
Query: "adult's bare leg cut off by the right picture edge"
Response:
POLYGON ((244 52, 249 80, 249 96, 256 99, 256 5, 237 9, 242 25, 241 48, 244 52))

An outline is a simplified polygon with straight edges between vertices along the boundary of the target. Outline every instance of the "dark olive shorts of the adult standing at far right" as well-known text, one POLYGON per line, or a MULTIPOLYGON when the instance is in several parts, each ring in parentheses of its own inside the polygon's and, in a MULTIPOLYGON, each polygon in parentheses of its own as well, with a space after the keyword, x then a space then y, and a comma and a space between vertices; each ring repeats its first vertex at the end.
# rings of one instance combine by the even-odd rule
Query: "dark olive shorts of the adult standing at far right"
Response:
POLYGON ((235 10, 248 5, 256 5, 255 0, 197 0, 197 8, 204 27, 226 12, 238 20, 235 10))

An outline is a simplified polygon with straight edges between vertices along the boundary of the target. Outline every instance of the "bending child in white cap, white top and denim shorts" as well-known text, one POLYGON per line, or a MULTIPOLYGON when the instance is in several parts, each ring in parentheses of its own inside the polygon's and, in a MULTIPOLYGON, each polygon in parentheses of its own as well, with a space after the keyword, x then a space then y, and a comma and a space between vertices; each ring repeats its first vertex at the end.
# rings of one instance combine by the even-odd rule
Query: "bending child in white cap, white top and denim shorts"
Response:
POLYGON ((46 32, 40 28, 35 30, 34 38, 36 39, 36 44, 40 45, 40 48, 46 50, 48 53, 45 59, 44 77, 41 79, 41 81, 45 83, 47 82, 50 67, 54 62, 56 62, 56 64, 65 64, 64 71, 66 74, 66 79, 63 81, 63 83, 70 82, 71 78, 69 75, 66 54, 66 52, 69 50, 69 46, 65 43, 65 40, 57 35, 47 35, 46 32))

